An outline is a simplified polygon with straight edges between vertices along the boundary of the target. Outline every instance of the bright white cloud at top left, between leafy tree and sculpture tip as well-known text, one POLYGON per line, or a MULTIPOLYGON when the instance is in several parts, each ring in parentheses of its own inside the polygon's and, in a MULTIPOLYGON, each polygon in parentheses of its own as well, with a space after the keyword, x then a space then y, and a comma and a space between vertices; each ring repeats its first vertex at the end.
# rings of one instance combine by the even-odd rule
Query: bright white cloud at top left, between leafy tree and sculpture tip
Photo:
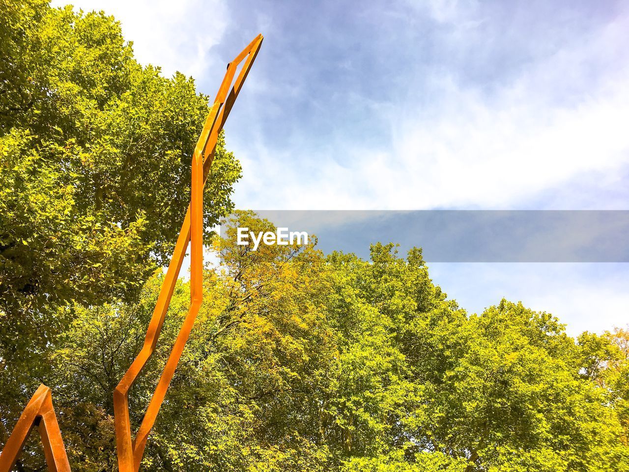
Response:
POLYGON ((125 39, 133 41, 136 59, 141 64, 161 66, 167 77, 177 70, 199 77, 213 67, 208 52, 220 43, 228 21, 222 0, 52 1, 53 6, 65 4, 113 14, 121 23, 125 39))

